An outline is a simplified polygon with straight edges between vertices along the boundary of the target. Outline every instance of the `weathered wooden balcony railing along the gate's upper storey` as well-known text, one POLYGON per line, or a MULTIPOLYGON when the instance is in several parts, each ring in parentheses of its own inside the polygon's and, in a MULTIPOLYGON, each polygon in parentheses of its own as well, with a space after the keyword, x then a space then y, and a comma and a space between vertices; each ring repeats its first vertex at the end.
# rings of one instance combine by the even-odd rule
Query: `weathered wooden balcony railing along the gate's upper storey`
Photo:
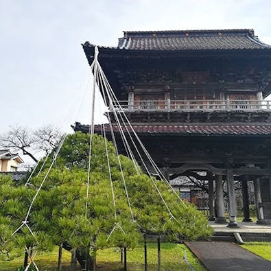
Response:
MULTIPOLYGON (((253 110, 266 110, 271 111, 271 101, 266 100, 142 100, 142 101, 119 101, 120 106, 115 106, 117 110, 126 111, 253 111, 253 110)), ((113 109, 113 105, 110 106, 110 110, 113 109)))

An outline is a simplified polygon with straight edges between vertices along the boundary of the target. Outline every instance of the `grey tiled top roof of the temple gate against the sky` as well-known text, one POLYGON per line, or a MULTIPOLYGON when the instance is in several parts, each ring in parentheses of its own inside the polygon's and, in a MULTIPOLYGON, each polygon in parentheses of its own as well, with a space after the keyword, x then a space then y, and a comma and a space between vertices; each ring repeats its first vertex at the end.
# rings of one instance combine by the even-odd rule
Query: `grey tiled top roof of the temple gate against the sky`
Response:
MULTIPOLYGON (((84 46, 94 46, 85 43, 84 46)), ((253 30, 182 30, 124 32, 117 47, 111 49, 182 51, 271 49, 261 43, 253 30)))

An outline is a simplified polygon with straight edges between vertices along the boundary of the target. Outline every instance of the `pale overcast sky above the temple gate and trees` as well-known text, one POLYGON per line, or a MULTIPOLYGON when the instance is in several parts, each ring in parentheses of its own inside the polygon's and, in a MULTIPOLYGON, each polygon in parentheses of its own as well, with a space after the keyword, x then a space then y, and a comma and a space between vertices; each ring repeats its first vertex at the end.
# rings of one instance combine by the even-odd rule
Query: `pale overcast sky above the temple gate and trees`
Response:
POLYGON ((254 28, 271 44, 270 14, 267 0, 0 0, 0 133, 63 121, 69 130, 74 115, 89 122, 86 40, 116 46, 123 30, 254 28))

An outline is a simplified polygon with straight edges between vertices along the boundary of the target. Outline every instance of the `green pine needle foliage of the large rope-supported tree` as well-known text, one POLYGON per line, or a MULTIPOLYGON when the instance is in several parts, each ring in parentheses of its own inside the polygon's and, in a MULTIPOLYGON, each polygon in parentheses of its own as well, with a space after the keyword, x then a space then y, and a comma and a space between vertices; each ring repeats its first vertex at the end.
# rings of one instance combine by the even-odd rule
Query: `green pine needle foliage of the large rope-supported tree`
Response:
POLYGON ((25 246, 47 251, 68 242, 73 249, 85 251, 91 248, 95 257, 98 249, 106 247, 134 248, 141 241, 142 233, 166 235, 172 240, 211 235, 204 215, 193 205, 180 202, 165 181, 151 179, 143 172, 137 174, 134 163, 126 156, 119 156, 120 167, 113 143, 107 141, 113 197, 104 138, 94 134, 92 140, 88 198, 90 135, 75 132, 64 141, 56 165, 34 201, 28 218, 34 237, 25 226, 15 235, 12 233, 24 220, 54 154, 28 187, 12 182, 9 176, 0 176, 1 259, 16 257, 16 253, 25 246), (132 210, 123 188, 121 169, 132 210), (161 191, 167 207, 153 182, 161 191))

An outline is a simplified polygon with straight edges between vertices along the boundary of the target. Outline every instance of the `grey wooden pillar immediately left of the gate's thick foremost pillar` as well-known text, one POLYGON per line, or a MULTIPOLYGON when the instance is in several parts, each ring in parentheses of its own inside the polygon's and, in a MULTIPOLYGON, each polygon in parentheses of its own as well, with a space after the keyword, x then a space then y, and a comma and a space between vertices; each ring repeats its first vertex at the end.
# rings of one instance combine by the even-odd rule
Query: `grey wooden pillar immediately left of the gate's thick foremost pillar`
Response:
POLYGON ((215 178, 215 196, 217 203, 217 217, 215 223, 225 224, 225 209, 224 209, 224 195, 223 195, 223 181, 222 175, 217 175, 215 178))

